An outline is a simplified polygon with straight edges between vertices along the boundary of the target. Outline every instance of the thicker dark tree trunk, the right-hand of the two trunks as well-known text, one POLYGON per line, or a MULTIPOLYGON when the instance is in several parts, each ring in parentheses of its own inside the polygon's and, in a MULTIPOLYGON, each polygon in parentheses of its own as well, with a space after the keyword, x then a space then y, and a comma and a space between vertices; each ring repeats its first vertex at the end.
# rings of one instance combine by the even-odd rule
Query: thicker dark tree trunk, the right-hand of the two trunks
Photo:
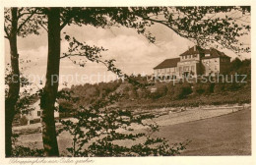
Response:
POLYGON ((54 104, 58 91, 60 65, 60 12, 59 8, 49 8, 48 16, 48 59, 46 83, 42 90, 42 141, 45 156, 59 156, 57 134, 54 121, 54 104))

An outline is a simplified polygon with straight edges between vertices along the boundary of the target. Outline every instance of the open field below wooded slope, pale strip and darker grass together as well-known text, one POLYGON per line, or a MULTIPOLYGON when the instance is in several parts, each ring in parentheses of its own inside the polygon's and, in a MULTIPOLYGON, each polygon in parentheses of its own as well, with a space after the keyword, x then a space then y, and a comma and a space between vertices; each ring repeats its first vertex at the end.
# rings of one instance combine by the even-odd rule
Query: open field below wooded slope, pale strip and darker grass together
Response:
MULTIPOLYGON (((166 138, 170 143, 192 140, 181 155, 249 155, 251 154, 250 108, 233 109, 191 109, 169 113, 155 121, 160 132, 154 137, 166 138)), ((35 125, 37 127, 37 125, 35 125)), ((19 131, 19 128, 15 129, 19 131)), ((140 130, 140 128, 137 128, 140 130)), ((21 132, 21 130, 20 130, 21 132)), ((18 138, 19 144, 42 147, 41 135, 28 134, 18 138)), ((60 151, 71 145, 68 134, 58 138, 60 151)), ((130 142, 122 141, 123 144, 130 142)))

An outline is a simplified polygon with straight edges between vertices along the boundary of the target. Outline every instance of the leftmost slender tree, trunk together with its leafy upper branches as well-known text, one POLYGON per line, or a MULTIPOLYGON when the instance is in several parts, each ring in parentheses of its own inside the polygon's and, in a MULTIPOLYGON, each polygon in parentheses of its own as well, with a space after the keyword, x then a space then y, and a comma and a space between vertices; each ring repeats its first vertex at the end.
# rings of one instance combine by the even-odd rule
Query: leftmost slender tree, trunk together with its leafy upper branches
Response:
POLYGON ((15 116, 15 105, 20 93, 19 53, 17 36, 25 37, 28 34, 38 34, 37 24, 32 24, 36 10, 31 8, 5 9, 5 34, 10 44, 11 54, 11 79, 8 82, 8 91, 5 98, 5 153, 6 157, 12 153, 12 123, 15 116))

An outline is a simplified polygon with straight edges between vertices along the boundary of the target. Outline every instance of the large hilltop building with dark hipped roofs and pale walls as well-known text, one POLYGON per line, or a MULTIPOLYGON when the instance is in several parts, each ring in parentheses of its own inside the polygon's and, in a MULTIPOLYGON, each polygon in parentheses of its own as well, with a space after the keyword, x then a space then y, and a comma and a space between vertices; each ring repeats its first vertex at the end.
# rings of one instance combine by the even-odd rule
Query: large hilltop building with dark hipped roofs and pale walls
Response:
POLYGON ((228 70, 230 57, 215 48, 193 46, 179 55, 166 59, 154 68, 155 79, 176 80, 200 76, 216 76, 228 70))

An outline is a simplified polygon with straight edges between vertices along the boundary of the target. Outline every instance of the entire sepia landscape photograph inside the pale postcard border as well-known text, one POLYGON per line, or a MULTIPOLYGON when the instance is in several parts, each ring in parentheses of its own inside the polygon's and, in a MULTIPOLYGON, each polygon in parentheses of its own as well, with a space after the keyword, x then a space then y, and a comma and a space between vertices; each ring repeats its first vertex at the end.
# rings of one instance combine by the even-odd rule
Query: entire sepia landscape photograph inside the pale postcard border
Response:
POLYGON ((3 12, 11 163, 252 155, 251 6, 3 12))

